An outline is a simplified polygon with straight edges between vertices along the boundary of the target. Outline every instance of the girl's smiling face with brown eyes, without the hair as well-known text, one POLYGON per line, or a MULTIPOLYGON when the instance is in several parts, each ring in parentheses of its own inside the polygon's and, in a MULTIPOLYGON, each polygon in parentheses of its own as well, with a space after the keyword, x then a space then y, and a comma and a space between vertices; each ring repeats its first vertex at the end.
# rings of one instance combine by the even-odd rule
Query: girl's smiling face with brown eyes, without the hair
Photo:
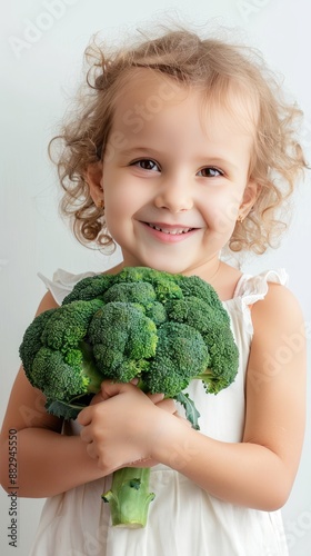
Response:
POLYGON ((255 196, 247 109, 231 105, 234 115, 209 110, 200 91, 146 69, 122 90, 101 186, 126 266, 200 276, 215 267, 255 196))

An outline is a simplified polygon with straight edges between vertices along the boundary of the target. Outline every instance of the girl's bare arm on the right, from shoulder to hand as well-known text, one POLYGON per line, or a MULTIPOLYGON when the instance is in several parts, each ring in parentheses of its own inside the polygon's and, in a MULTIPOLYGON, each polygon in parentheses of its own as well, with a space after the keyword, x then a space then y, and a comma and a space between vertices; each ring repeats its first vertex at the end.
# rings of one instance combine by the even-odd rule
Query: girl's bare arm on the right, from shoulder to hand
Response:
POLYGON ((134 386, 104 383, 107 401, 79 416, 88 453, 104 473, 151 456, 220 499, 263 510, 285 503, 304 433, 303 318, 292 294, 270 285, 265 299, 253 306, 252 319, 243 441, 209 438, 172 415, 159 414, 134 386), (113 435, 103 427, 108 417, 113 435))

